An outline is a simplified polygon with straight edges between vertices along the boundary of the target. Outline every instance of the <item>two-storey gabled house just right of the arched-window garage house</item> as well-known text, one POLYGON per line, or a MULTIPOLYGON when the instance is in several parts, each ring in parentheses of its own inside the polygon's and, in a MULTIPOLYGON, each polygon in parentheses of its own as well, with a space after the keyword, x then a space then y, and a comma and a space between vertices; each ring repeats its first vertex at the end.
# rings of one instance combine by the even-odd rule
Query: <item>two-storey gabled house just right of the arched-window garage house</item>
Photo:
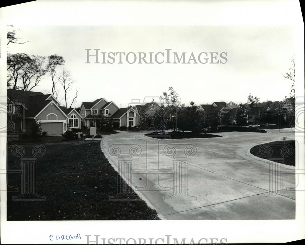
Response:
POLYGON ((111 119, 114 128, 135 127, 139 122, 139 113, 135 108, 120 108, 113 101, 107 101, 105 98, 99 98, 93 102, 82 102, 79 114, 87 127, 96 127, 99 118, 111 119))

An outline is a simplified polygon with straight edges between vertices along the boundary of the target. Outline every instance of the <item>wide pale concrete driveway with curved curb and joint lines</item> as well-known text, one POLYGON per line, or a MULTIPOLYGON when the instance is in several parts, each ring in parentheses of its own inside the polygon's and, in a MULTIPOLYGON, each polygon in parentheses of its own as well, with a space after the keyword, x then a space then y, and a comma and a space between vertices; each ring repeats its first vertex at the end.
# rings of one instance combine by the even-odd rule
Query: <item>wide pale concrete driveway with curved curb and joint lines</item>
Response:
POLYGON ((294 219, 294 170, 279 167, 270 175, 269 163, 246 154, 257 144, 284 136, 294 139, 292 129, 267 131, 162 140, 143 136, 147 132, 122 131, 105 135, 101 147, 127 182, 166 219, 294 219))

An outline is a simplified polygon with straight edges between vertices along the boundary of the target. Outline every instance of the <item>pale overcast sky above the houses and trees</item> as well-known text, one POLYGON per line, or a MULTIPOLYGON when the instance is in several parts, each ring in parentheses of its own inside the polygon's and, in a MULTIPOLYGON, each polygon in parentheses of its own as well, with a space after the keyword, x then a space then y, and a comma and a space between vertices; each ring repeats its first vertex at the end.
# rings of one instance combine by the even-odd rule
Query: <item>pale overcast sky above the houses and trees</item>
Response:
MULTIPOLYGON (((65 59, 65 68, 79 89, 77 103, 97 98, 126 107, 133 99, 161 96, 174 87, 189 105, 213 101, 246 103, 249 93, 260 101, 282 100, 290 80, 283 75, 295 54, 289 26, 15 26, 25 44, 10 44, 9 53, 65 59), (86 64, 85 49, 100 52, 226 52, 225 64, 86 64)), ((10 29, 9 29, 10 30, 10 29)), ((101 56, 100 56, 101 57, 101 56)), ((60 73, 62 67, 58 68, 60 73)), ((51 92, 48 74, 33 91, 51 92)), ((59 87, 60 88, 60 87, 59 87)), ((61 93, 60 98, 63 97, 61 93)), ((73 94, 70 94, 73 98, 73 94)), ((59 99, 61 101, 61 99, 59 99)), ((63 100, 61 101, 63 103, 63 100)))

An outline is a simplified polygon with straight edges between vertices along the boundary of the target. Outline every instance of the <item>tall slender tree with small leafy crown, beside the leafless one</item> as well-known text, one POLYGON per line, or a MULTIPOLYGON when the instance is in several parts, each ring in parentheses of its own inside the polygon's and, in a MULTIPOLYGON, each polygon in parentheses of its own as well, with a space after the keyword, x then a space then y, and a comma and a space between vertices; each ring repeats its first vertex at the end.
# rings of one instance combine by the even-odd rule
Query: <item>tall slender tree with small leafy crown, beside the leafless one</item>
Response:
POLYGON ((48 56, 48 64, 46 66, 47 71, 50 73, 52 79, 52 95, 57 99, 59 90, 56 89, 56 83, 60 80, 60 76, 56 76, 56 68, 65 63, 62 56, 51 55, 48 56))

